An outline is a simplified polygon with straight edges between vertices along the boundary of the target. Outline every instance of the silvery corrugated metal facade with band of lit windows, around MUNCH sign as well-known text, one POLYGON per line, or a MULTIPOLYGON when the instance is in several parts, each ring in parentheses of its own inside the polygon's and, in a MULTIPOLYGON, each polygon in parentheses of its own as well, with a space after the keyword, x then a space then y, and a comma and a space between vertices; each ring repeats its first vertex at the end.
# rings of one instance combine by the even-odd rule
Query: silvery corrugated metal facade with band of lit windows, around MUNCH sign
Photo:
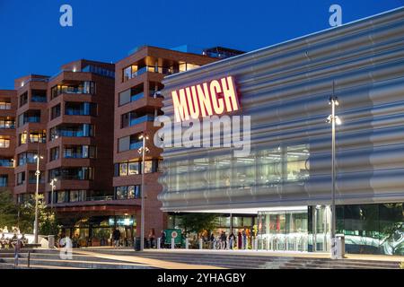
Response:
POLYGON ((165 115, 171 91, 227 75, 251 117, 251 155, 165 148, 163 210, 329 203, 333 81, 337 204, 404 202, 404 9, 167 77, 165 115))

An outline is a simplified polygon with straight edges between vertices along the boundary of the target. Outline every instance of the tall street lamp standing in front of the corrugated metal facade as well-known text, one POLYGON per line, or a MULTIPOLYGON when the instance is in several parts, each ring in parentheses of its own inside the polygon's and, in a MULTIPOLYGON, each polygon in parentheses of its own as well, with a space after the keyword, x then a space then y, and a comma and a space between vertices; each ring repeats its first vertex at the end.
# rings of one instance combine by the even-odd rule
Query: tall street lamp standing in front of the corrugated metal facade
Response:
POLYGON ((332 95, 329 97, 329 105, 331 106, 331 115, 327 117, 327 122, 332 126, 332 135, 331 135, 331 258, 335 259, 336 254, 336 222, 337 222, 337 213, 335 206, 335 182, 336 182, 336 167, 335 167, 335 134, 336 134, 336 125, 341 125, 341 119, 335 115, 335 109, 338 107, 338 97, 334 94, 334 82, 332 83, 332 95))

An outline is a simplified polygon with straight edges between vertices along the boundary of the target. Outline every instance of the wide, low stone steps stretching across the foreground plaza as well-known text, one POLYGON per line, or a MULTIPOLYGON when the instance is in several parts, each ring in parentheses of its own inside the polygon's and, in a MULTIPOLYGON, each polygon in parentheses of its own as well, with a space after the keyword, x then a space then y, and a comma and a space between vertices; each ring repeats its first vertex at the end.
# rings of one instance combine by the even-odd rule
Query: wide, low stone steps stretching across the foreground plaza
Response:
POLYGON ((56 249, 24 249, 20 253, 19 265, 14 266, 13 250, 0 250, 0 269, 151 269, 153 266, 136 262, 141 258, 158 259, 189 265, 211 265, 230 269, 399 269, 399 261, 359 260, 318 257, 257 256, 229 252, 180 252, 174 250, 136 252, 131 249, 79 249, 103 256, 113 255, 114 259, 83 255, 73 251, 72 260, 63 260, 56 249), (134 262, 119 260, 119 257, 133 257, 134 262), (139 258, 140 257, 140 258, 139 258), (117 259, 118 258, 118 259, 117 259), (137 259, 136 259, 137 258, 137 259))

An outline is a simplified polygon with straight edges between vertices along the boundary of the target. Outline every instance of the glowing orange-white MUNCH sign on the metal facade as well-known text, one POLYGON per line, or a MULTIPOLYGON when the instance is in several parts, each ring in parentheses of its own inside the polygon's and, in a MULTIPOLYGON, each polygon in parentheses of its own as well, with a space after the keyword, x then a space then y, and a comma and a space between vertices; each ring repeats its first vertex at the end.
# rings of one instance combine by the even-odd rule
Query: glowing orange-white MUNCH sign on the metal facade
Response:
POLYGON ((177 122, 240 109, 232 76, 171 91, 171 96, 177 122))

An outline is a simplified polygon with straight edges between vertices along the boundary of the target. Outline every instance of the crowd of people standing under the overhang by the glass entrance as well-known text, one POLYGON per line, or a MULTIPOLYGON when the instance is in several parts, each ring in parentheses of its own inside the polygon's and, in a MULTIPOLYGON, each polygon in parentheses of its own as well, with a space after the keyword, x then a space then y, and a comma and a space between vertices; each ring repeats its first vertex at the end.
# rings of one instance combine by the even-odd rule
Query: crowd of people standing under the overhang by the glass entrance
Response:
POLYGON ((218 236, 211 233, 208 239, 206 237, 204 239, 209 243, 211 249, 247 249, 250 245, 250 232, 243 229, 237 233, 237 236, 234 235, 233 231, 227 236, 222 230, 218 236))

